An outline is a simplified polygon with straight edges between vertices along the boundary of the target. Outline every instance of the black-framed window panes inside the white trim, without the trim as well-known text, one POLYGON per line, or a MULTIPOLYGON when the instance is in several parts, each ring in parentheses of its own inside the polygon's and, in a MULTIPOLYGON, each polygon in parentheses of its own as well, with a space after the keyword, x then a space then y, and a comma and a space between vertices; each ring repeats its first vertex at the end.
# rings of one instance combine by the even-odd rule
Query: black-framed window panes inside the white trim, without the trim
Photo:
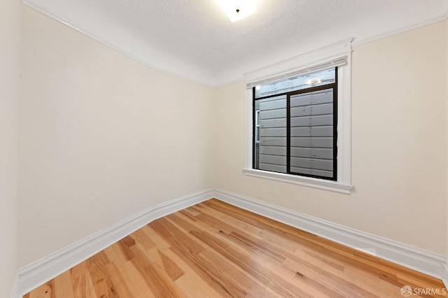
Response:
POLYGON ((337 180, 337 69, 253 87, 253 111, 253 169, 337 180))

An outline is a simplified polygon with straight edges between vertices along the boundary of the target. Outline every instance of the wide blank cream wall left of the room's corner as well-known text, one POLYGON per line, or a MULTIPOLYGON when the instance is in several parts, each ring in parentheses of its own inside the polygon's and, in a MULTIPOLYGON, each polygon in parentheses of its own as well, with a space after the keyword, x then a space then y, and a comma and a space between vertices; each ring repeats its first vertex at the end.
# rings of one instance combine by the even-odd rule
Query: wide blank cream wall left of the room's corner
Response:
POLYGON ((20 267, 213 187, 216 90, 24 10, 20 267))

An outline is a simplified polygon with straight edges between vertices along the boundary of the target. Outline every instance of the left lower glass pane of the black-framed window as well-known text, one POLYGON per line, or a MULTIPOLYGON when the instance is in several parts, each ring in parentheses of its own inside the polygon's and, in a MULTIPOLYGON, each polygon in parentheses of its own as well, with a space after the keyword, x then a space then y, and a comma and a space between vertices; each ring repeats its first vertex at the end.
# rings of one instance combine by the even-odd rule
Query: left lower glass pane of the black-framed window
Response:
POLYGON ((286 173, 286 95, 255 100, 260 142, 255 143, 255 169, 286 173))

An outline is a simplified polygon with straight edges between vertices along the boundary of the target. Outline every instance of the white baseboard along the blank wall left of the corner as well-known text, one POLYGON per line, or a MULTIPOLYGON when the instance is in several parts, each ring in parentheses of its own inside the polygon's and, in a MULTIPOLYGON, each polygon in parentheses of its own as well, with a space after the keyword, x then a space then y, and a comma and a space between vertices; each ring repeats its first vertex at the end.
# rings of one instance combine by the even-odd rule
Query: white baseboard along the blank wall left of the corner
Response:
POLYGON ((21 295, 25 295, 39 285, 50 281, 64 271, 87 260, 87 258, 99 253, 104 248, 111 246, 149 222, 212 197, 214 197, 214 191, 209 189, 153 206, 133 215, 131 218, 122 220, 86 239, 73 243, 71 246, 62 248, 62 250, 58 250, 47 257, 43 257, 41 260, 29 264, 19 269, 18 278, 16 278, 18 279, 18 285, 15 286, 14 296, 12 297, 21 298, 21 295))

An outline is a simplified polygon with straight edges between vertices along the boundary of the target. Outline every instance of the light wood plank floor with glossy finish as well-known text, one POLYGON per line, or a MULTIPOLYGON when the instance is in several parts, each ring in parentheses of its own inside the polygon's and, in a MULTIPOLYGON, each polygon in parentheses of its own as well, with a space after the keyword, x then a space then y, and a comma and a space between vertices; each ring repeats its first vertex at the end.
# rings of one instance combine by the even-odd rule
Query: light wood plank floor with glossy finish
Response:
POLYGON ((445 292, 436 278, 211 199, 151 222, 25 298, 403 297, 404 285, 445 292))

